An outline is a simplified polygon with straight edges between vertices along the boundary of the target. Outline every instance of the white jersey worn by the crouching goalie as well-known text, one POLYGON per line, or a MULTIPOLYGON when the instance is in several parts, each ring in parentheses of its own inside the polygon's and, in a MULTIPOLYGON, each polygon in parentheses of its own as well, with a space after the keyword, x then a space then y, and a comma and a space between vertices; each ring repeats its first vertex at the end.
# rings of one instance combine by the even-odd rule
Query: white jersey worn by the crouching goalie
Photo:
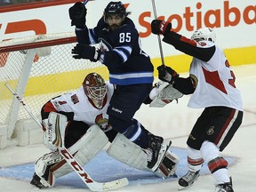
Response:
MULTIPOLYGON (((108 103, 114 92, 112 84, 107 84, 107 102, 103 108, 94 108, 87 96, 84 93, 84 88, 81 87, 74 92, 65 93, 51 100, 53 107, 57 111, 74 112, 74 120, 82 121, 91 126, 98 124, 103 126, 108 124, 107 108, 108 103)), ((104 129, 104 127, 100 127, 104 129)), ((107 128, 107 127, 106 127, 107 128)), ((105 129, 106 129, 105 128, 105 129)))

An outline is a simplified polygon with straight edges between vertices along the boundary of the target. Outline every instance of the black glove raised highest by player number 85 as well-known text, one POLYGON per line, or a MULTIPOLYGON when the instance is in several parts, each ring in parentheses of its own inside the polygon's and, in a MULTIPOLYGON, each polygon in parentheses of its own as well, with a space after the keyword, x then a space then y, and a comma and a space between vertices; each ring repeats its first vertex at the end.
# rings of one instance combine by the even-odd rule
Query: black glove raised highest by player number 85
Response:
POLYGON ((84 4, 81 2, 76 2, 72 7, 68 10, 69 18, 71 20, 71 26, 76 26, 76 28, 84 28, 85 26, 85 16, 87 13, 87 9, 84 4))

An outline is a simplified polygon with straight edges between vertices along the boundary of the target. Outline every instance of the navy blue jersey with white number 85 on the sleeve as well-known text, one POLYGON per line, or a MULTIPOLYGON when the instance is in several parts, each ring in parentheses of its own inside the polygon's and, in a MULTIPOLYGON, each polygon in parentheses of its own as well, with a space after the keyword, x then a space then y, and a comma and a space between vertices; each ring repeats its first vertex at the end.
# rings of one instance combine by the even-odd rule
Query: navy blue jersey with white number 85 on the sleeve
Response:
POLYGON ((141 50, 140 36, 133 21, 110 31, 103 17, 95 28, 76 29, 79 44, 100 44, 100 62, 108 67, 111 84, 152 84, 154 67, 141 50))

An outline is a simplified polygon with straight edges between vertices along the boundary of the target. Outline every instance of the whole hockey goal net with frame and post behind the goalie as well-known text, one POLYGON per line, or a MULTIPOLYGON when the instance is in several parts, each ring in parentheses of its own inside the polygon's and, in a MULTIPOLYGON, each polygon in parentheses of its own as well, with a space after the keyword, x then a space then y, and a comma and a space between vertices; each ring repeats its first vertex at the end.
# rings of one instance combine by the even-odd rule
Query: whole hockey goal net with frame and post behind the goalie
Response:
POLYGON ((28 36, 0 43, 0 148, 43 141, 43 132, 20 101, 40 120, 44 103, 79 88, 84 76, 97 72, 108 80, 108 68, 90 60, 75 60, 75 33, 28 36))

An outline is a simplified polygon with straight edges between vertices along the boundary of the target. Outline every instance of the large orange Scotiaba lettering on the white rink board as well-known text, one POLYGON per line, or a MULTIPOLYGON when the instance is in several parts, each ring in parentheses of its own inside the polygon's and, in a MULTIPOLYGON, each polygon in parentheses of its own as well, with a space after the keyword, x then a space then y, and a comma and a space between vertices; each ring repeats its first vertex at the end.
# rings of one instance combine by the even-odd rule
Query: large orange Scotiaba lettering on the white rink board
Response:
MULTIPOLYGON (((169 16, 158 16, 160 20, 168 20, 169 22, 176 23, 172 25, 172 30, 179 32, 182 27, 188 31, 194 31, 197 28, 221 28, 221 27, 234 27, 239 23, 244 22, 247 25, 255 25, 256 23, 256 6, 248 5, 244 10, 239 10, 237 7, 232 7, 229 1, 223 1, 223 7, 216 10, 208 10, 201 12, 204 4, 198 2, 196 4, 196 12, 191 11, 191 7, 185 7, 182 14, 171 14, 169 16), (192 24, 192 21, 196 21, 192 24)), ((141 37, 147 37, 151 33, 150 23, 146 19, 152 19, 152 12, 142 12, 140 14, 140 26, 146 28, 146 32, 140 32, 141 37)))

